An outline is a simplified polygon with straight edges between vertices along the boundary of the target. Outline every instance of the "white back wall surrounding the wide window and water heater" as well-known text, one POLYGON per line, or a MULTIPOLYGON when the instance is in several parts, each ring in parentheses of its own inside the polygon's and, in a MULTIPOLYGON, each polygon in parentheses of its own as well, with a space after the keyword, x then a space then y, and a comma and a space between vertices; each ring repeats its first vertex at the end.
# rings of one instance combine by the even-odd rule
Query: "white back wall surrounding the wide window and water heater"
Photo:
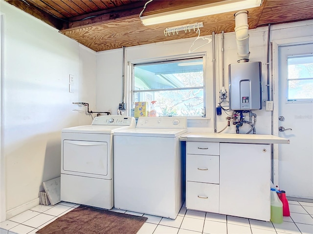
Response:
MULTIPOLYGON (((296 23, 278 24, 271 26, 270 40, 286 39, 292 37, 305 37, 313 35, 312 31, 313 20, 307 20, 296 23)), ((205 25, 204 25, 205 26, 205 25)), ((180 32, 179 32, 180 33, 180 32)), ((181 32, 183 34, 184 32, 181 32)), ((250 61, 262 62, 262 78, 263 78, 263 109, 253 111, 257 114, 256 133, 257 134, 271 134, 271 112, 265 110, 265 101, 268 98, 267 93, 267 40, 268 27, 261 27, 249 30, 249 50, 250 61)), ((196 36, 196 33, 195 33, 196 36)), ((203 35, 201 35, 203 36, 203 35)), ((212 37, 209 35, 207 37, 212 37)), ((219 102, 219 90, 222 87, 222 35, 217 35, 216 40, 216 61, 217 61, 217 80, 216 80, 216 102, 219 102)), ((179 39, 175 41, 160 42, 142 46, 134 46, 126 48, 126 62, 125 62, 125 80, 130 75, 127 70, 127 62, 140 59, 155 59, 167 56, 188 55, 188 50, 194 39, 179 39)), ((200 124, 192 124, 188 122, 190 131, 200 132, 214 132, 214 115, 213 108, 213 73, 212 73, 212 44, 201 47, 194 53, 206 53, 206 116, 211 118, 208 121, 202 121, 200 124)), ((228 92, 228 64, 236 63, 237 58, 237 44, 235 33, 224 34, 224 81, 225 88, 228 92)), ((97 92, 96 101, 97 107, 104 109, 116 110, 118 103, 122 97, 122 49, 115 49, 110 51, 103 51, 97 53, 97 92)), ((271 78, 270 78, 271 83, 271 78)), ((271 88, 271 87, 270 87, 271 88)), ((126 92, 127 96, 130 96, 126 92)), ((228 93, 227 93, 228 96, 228 93)), ((227 98, 228 99, 228 98, 227 98)), ((131 103, 127 100, 127 107, 131 103)), ((274 105, 275 106, 275 105, 274 105)), ((220 131, 226 126, 226 114, 222 112, 222 116, 217 117, 217 131, 220 131)), ((124 113, 127 115, 127 112, 124 113)), ((243 126, 240 128, 241 133, 246 133, 250 126, 243 126)), ((227 128, 224 133, 235 133, 235 126, 227 128)))

